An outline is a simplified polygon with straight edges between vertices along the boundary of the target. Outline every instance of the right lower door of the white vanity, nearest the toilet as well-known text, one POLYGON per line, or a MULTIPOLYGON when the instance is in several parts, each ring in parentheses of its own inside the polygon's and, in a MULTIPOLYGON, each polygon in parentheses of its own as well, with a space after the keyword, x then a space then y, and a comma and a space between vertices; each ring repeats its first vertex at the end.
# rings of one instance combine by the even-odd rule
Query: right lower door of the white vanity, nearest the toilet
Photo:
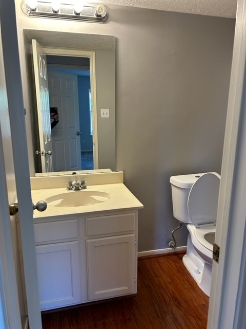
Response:
POLYGON ((136 292, 135 235, 87 240, 89 299, 136 292))

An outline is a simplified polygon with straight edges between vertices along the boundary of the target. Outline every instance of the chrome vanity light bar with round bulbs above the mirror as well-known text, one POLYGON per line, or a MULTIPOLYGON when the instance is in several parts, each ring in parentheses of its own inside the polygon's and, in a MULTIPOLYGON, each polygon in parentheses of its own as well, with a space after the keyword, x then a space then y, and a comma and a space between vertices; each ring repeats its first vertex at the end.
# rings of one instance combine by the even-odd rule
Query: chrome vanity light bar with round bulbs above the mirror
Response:
POLYGON ((22 2, 22 10, 29 17, 91 23, 105 23, 109 16, 104 5, 84 3, 81 0, 74 0, 73 4, 71 4, 71 1, 69 4, 66 4, 59 0, 24 0, 22 2))

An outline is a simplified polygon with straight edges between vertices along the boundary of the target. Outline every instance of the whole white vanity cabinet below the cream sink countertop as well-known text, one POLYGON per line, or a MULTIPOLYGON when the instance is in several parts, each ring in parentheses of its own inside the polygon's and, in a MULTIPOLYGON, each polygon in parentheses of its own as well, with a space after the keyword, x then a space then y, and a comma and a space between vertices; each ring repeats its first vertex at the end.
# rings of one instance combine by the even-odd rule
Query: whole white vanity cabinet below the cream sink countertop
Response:
POLYGON ((42 310, 135 294, 138 210, 34 220, 42 310))

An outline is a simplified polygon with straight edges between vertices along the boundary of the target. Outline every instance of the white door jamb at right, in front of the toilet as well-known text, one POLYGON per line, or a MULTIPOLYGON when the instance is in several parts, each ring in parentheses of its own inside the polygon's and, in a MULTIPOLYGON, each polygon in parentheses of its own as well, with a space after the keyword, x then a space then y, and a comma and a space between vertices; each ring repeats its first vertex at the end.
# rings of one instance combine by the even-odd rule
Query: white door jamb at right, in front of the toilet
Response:
POLYGON ((246 280, 245 5, 246 0, 238 0, 215 235, 220 255, 219 263, 213 262, 209 329, 246 327, 246 319, 243 318, 246 296, 241 290, 242 282, 246 280))

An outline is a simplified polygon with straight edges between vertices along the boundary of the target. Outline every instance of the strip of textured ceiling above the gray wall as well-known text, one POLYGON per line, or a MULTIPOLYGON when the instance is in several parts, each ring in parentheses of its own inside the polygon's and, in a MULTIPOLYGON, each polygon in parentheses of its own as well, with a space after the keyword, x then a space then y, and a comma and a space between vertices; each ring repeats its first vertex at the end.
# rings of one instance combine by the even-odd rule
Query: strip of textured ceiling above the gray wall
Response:
POLYGON ((237 7, 237 0, 96 0, 93 2, 230 18, 236 17, 237 7))

